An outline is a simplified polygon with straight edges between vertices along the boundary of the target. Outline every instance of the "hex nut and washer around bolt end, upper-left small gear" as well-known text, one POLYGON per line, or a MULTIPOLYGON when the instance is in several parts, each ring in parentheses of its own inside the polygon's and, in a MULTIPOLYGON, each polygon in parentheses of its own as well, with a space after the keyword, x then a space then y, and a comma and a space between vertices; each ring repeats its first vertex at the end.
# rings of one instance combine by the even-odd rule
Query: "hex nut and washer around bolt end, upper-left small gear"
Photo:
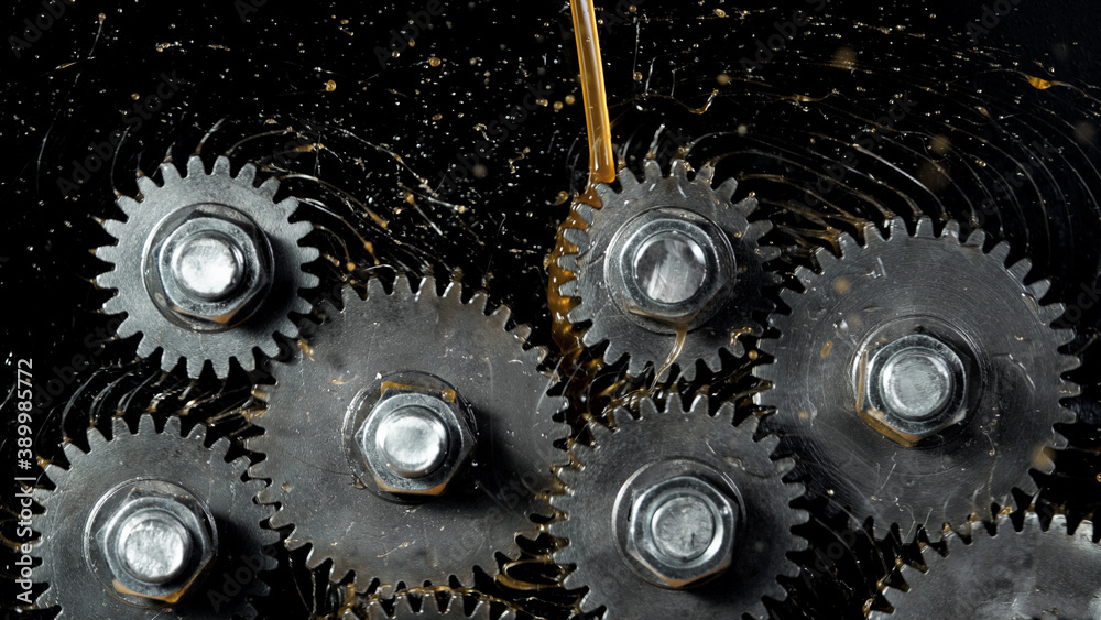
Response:
MULTIPOLYGON (((222 205, 198 205, 181 209, 159 228, 150 246, 155 276, 146 275, 154 302, 198 330, 220 330, 248 318, 271 290, 274 262, 268 236, 241 211, 222 205), (221 249, 240 265, 235 290, 219 296, 197 295, 174 275, 182 247, 196 236, 207 237, 210 248, 221 249)), ((149 270, 146 271, 146 273, 149 270)), ((225 269, 218 272, 225 278, 225 269)))

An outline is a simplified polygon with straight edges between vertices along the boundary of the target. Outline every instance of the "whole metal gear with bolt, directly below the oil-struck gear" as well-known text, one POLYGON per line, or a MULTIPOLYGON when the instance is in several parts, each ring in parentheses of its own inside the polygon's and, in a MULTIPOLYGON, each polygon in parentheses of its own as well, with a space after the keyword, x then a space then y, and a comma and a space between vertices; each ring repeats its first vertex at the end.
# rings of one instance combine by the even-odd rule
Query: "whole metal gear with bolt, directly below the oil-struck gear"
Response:
POLYGON ((792 527, 808 515, 789 505, 803 486, 782 480, 793 464, 772 459, 776 438, 754 440, 757 418, 735 426, 733 411, 712 417, 702 396, 686 411, 674 394, 659 412, 646 399, 637 420, 617 410, 614 431, 592 423, 593 445, 571 447, 548 532, 566 541, 554 562, 574 566, 563 585, 588 588, 580 613, 764 618, 764 597, 786 598, 777 577, 798 575, 787 554, 806 548, 792 527))

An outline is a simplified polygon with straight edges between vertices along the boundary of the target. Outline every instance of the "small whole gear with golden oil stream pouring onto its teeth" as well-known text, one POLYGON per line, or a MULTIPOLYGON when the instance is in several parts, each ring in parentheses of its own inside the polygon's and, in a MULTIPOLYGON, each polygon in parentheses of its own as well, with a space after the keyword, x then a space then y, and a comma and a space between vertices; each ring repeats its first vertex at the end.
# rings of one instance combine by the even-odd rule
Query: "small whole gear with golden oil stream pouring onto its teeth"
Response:
POLYGON ((712 189, 713 174, 705 165, 688 181, 684 160, 673 161, 669 176, 653 160, 642 180, 621 170, 621 192, 596 186, 601 208, 575 206, 588 229, 563 232, 578 248, 559 259, 576 274, 559 293, 579 300, 567 318, 592 322, 585 345, 607 341, 604 360, 628 356, 631 376, 648 367, 668 376, 678 327, 687 330, 676 356, 680 373, 691 380, 697 360, 718 371, 719 350, 744 355, 741 338, 761 334, 754 313, 773 308, 762 292, 773 281, 763 263, 780 249, 757 244, 772 224, 750 222, 756 198, 731 204, 738 183, 712 189))

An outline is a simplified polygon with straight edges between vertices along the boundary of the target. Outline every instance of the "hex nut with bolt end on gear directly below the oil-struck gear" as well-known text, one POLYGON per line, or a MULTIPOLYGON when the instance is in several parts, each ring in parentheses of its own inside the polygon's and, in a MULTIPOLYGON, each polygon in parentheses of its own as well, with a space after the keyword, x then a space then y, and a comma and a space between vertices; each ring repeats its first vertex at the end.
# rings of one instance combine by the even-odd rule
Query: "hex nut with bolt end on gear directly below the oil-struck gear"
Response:
POLYGON ((647 580, 689 588, 730 567, 737 525, 727 493, 698 476, 676 476, 634 494, 625 551, 647 580))

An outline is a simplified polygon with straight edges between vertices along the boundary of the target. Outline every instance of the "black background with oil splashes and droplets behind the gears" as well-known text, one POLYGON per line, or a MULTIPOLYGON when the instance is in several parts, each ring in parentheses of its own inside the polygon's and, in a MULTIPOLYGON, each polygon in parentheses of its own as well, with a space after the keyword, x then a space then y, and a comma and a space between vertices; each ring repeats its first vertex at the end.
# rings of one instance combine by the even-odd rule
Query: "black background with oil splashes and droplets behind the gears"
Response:
MULTIPOLYGON (((1070 404, 1101 423, 1101 8, 844 4, 609 2, 600 35, 618 155, 636 172, 647 154, 715 161, 717 176, 739 178, 735 199, 760 199, 791 264, 824 230, 889 214, 950 216, 1011 240, 1071 308, 1084 363, 1070 404)), ((63 459, 63 437, 83 442, 89 422, 146 410, 254 433, 240 413, 260 407, 243 373, 162 376, 97 312, 108 294, 91 280, 105 263, 89 250, 109 238, 96 218, 118 217, 116 193, 134 195, 135 174, 168 157, 226 154, 279 175, 316 226, 308 240, 324 258, 309 269, 326 294, 381 264, 460 273, 549 345, 544 259, 588 165, 565 3, 81 0, 33 25, 44 11, 7 7, 3 35, 18 40, 0 51, 0 342, 12 374, 32 357, 36 381, 56 388, 35 414, 43 458, 63 459), (416 30, 414 44, 402 29, 416 30), (87 160, 96 151, 99 166, 87 160)), ((751 388, 738 367, 706 385, 751 388)), ((8 393, 6 464, 12 404, 8 393)), ((1081 516, 1101 497, 1101 433, 1081 423, 1067 434, 1044 500, 1081 516)), ((13 505, 6 488, 9 541, 13 505)), ((804 576, 776 613, 859 617, 897 550, 817 519, 805 533, 804 576)), ((338 609, 341 591, 301 554, 281 562, 261 616, 338 609)), ((565 616, 560 592, 475 586, 565 616)))

